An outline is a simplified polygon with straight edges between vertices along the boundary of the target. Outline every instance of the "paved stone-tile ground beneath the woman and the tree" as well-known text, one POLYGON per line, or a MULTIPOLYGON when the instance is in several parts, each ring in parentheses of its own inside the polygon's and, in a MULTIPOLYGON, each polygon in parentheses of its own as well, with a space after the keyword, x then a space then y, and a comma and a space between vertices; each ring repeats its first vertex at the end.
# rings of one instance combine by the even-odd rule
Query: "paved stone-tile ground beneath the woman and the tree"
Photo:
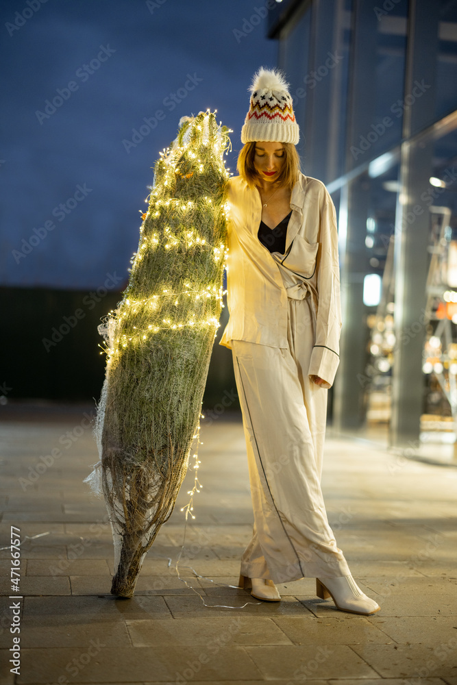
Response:
POLYGON ((23 599, 9 599, 18 594, 10 549, 0 550, 0 685, 457 685, 457 469, 395 458, 329 429, 330 524, 381 610, 340 612, 317 599, 312 578, 279 586, 280 603, 258 603, 229 587, 238 582, 252 510, 243 427, 226 412, 201 427, 203 489, 187 526, 182 580, 173 566, 193 470, 135 596, 118 599, 110 595, 106 508, 82 482, 98 459, 84 410, 31 411, 23 420, 13 412, 0 423, 0 546, 10 544, 11 526, 23 541, 23 599), (61 456, 40 458, 53 449, 61 456), (18 619, 21 632, 12 634, 18 619), (20 675, 10 673, 14 636, 20 675))

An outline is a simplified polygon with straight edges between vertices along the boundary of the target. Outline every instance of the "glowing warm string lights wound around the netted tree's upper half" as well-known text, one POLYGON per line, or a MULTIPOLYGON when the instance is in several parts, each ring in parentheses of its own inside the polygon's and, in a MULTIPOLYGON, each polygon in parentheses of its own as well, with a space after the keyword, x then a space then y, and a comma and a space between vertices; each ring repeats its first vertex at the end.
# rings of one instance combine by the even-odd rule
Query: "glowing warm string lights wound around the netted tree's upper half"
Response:
MULTIPOLYGON (((208 110, 201 124, 195 127, 202 136, 208 135, 210 117, 214 118, 214 114, 208 110)), ((206 158, 211 168, 216 169, 225 179, 229 174, 225 169, 223 153, 228 146, 230 140, 227 136, 216 136, 212 140, 211 154, 206 158)), ((132 268, 129 269, 129 286, 118 310, 112 312, 118 321, 118 335, 115 341, 109 340, 102 347, 107 354, 107 363, 118 359, 121 351, 125 353, 130 348, 136 349, 143 345, 149 347, 156 336, 167 332, 174 334, 184 329, 203 332, 209 329, 214 332, 214 336, 217 335, 220 324, 214 313, 223 308, 223 295, 226 292, 221 284, 184 280, 179 289, 176 286, 162 286, 149 297, 138 297, 135 287, 136 279, 141 278, 141 270, 153 266, 151 256, 154 256, 154 260, 159 259, 158 251, 169 254, 170 269, 173 269, 172 265, 178 254, 193 253, 195 250, 201 253, 202 260, 207 259, 205 255, 208 254, 213 264, 221 269, 219 273, 226 268, 228 249, 225 238, 224 241, 217 240, 215 244, 214 240, 208 240, 208 235, 201 233, 201 227, 205 224, 201 223, 199 217, 204 212, 206 217, 214 217, 214 220, 218 214, 225 219, 227 202, 223 201, 215 206, 208 190, 194 198, 180 197, 172 190, 177 183, 198 182, 195 173, 198 176, 205 172, 201 151, 201 147, 193 147, 192 141, 182 138, 180 145, 173 143, 172 147, 166 147, 160 152, 154 184, 148 186, 151 192, 145 199, 149 206, 146 212, 141 213, 143 223, 140 226, 140 242, 130 260, 132 268), (186 159, 189 163, 186 163, 186 159), (189 306, 195 308, 191 315, 188 313, 189 306), (171 316, 160 316, 162 312, 170 313, 171 316), (144 322, 143 325, 138 323, 138 319, 144 322), (133 323, 136 325, 132 325, 133 323)))

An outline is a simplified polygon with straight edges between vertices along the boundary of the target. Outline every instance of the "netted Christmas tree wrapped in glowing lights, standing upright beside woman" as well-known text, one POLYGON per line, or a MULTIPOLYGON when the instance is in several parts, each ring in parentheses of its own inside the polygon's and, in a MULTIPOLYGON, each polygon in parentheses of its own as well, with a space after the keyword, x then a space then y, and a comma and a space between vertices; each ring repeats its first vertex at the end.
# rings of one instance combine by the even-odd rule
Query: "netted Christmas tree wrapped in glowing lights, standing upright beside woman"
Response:
POLYGON ((173 511, 199 430, 222 307, 229 145, 214 113, 181 119, 154 167, 129 283, 99 327, 107 353, 95 427, 100 461, 85 480, 105 497, 111 593, 121 597, 134 594, 173 511))

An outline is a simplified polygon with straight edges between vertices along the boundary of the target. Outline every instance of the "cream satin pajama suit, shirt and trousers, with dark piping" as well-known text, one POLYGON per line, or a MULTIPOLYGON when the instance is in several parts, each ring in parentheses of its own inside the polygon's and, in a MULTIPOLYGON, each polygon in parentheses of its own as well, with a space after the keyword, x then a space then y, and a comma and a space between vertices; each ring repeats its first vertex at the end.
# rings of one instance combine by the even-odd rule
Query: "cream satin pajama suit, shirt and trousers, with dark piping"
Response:
POLYGON ((256 188, 232 177, 227 203, 230 318, 219 345, 232 349, 254 508, 241 573, 277 583, 349 575, 321 492, 342 325, 334 205, 322 182, 301 174, 281 254, 258 239, 256 188))

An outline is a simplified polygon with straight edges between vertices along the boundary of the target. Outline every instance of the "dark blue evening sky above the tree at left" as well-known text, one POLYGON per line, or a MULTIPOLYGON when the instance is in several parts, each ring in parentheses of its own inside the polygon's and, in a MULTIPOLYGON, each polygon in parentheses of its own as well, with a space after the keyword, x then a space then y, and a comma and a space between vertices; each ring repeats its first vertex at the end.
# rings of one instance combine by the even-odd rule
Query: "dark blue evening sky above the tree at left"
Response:
POLYGON ((108 273, 127 279, 151 167, 181 116, 218 110, 234 129, 234 171, 251 77, 258 66, 277 64, 265 20, 249 21, 263 7, 249 0, 1 3, 2 286, 83 290, 103 285, 108 273), (245 36, 243 26, 251 27, 245 36), (46 110, 58 89, 59 106, 46 110), (123 142, 145 117, 143 140, 123 142))

